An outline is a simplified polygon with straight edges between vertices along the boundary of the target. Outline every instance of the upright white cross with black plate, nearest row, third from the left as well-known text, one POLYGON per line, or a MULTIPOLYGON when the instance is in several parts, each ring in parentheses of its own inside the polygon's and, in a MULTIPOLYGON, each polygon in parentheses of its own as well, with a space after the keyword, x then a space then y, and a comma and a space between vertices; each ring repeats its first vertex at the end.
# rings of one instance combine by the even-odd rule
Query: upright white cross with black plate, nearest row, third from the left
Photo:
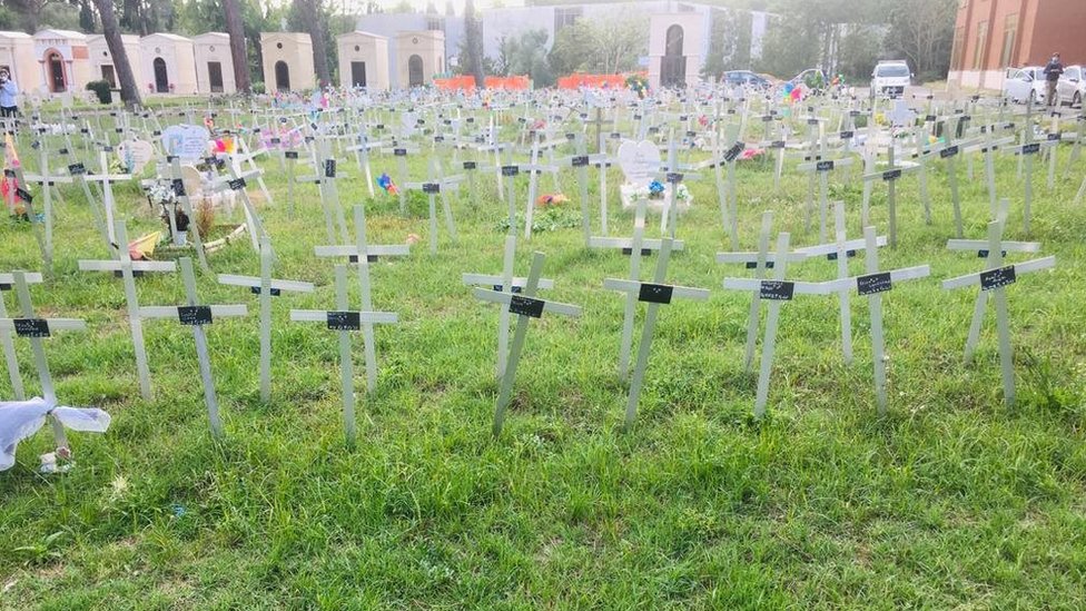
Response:
MULTIPOLYGON (((365 264, 362 264, 365 265, 365 264)), ((298 323, 325 323, 329 329, 339 332, 339 371, 343 384, 343 422, 347 433, 347 445, 355 443, 355 392, 354 366, 351 357, 351 332, 373 328, 375 324, 393 324, 398 321, 395 312, 353 312, 347 304, 347 267, 336 266, 336 309, 292 309, 290 319, 298 323)), ((367 373, 371 369, 366 366, 367 373)), ((375 372, 374 372, 375 373, 375 372)))

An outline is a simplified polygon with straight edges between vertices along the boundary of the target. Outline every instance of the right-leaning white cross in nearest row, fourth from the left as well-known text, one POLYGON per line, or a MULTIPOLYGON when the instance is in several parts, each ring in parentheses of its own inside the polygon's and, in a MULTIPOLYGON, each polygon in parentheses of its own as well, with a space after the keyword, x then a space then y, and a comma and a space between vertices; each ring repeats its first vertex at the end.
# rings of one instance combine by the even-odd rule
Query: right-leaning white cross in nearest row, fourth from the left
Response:
POLYGON ((516 314, 516 328, 513 332, 513 346, 510 348, 509 361, 505 364, 505 375, 502 377, 497 403, 494 407, 494 436, 502 434, 505 422, 505 410, 509 407, 513 394, 513 378, 516 376, 516 365, 521 361, 524 349, 524 337, 527 334, 527 323, 531 318, 542 318, 544 312, 563 316, 580 316, 581 307, 557 302, 549 302, 535 297, 540 288, 540 276, 543 274, 543 253, 535 253, 532 257, 532 268, 529 272, 524 288, 520 294, 504 290, 490 290, 476 287, 472 293, 476 299, 501 304, 503 309, 516 314))

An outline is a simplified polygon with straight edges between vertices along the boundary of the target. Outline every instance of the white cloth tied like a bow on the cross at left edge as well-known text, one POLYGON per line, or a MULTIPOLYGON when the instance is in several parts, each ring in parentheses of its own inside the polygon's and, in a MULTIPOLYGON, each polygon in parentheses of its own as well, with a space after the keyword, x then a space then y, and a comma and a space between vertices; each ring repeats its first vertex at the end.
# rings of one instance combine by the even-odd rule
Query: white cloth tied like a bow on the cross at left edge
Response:
POLYGON ((58 459, 71 460, 71 449, 67 445, 63 427, 72 431, 105 433, 109 428, 109 414, 96 407, 65 407, 50 405, 41 397, 30 401, 0 402, 0 471, 16 464, 16 447, 24 438, 33 436, 46 423, 53 420, 55 434, 59 433, 56 452, 41 455, 42 473, 58 473, 71 469, 75 463, 57 464, 58 459))

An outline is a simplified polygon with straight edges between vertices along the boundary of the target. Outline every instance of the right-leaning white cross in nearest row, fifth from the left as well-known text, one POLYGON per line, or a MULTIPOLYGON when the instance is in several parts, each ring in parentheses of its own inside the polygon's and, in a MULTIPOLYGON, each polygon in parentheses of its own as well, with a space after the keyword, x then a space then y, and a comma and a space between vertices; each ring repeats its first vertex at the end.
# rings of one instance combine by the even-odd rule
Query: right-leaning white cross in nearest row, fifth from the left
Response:
MULTIPOLYGON (((670 304, 674 297, 683 297, 703 302, 709 298, 709 290, 704 288, 691 288, 687 286, 673 286, 662 284, 668 275, 668 260, 671 258, 671 239, 663 240, 660 249, 660 258, 656 259, 656 270, 652 283, 642 283, 638 279, 605 278, 603 288, 621 290, 626 294, 626 317, 625 325, 632 328, 633 316, 631 315, 631 302, 634 307, 636 302, 645 302, 649 307, 645 311, 644 326, 641 331, 641 344, 638 346, 638 364, 633 369, 633 380, 630 384, 630 397, 626 402, 625 430, 633 427, 633 421, 638 416, 638 402, 641 397, 641 385, 644 383, 645 367, 649 365, 649 348, 652 345, 652 335, 656 327, 656 315, 661 304, 670 304), (635 299, 635 300, 634 300, 635 299)), ((636 257, 634 257, 636 259, 636 257)), ((625 326, 623 333, 625 332, 625 326)), ((624 338, 624 337, 623 337, 624 338)), ((628 346, 623 346, 629 351, 628 346)), ((621 365, 620 365, 621 366, 621 365)), ((624 376, 625 372, 621 372, 624 376)))

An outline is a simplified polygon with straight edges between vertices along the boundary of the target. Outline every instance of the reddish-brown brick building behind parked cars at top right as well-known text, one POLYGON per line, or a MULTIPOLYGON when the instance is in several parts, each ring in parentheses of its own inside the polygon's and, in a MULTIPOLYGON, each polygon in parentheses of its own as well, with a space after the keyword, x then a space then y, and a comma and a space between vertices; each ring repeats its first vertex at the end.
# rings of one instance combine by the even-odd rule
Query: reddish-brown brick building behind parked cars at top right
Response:
POLYGON ((947 80, 1000 89, 1007 68, 1044 66, 1053 52, 1086 63, 1084 27, 1082 0, 960 0, 947 80))

